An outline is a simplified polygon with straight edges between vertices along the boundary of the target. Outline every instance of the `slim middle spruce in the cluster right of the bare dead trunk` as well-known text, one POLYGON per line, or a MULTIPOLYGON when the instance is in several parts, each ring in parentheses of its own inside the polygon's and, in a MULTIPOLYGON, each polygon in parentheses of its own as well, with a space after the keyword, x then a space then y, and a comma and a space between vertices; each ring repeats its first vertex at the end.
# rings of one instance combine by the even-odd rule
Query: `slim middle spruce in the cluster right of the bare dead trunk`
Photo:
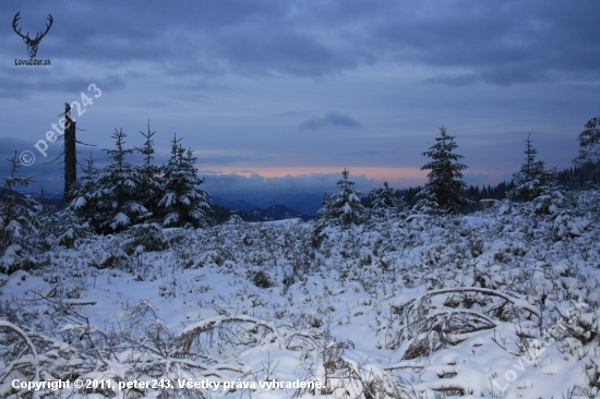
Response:
POLYGON ((152 138, 156 132, 152 132, 149 129, 146 133, 140 131, 144 136, 144 145, 142 147, 135 147, 135 150, 143 156, 144 164, 137 167, 137 172, 142 177, 142 181, 139 188, 139 198, 146 209, 153 215, 158 214, 158 202, 164 196, 158 178, 161 173, 159 166, 153 164, 154 159, 154 140, 152 138))

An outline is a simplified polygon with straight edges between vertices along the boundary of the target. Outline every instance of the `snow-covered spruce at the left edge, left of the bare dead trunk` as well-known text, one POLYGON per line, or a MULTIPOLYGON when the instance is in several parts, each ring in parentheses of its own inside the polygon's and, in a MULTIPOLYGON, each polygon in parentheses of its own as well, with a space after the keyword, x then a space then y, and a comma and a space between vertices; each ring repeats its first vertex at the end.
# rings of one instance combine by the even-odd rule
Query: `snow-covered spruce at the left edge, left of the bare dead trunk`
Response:
POLYGON ((32 265, 31 259, 24 255, 32 250, 32 240, 28 239, 37 233, 38 225, 38 204, 15 190, 16 185, 28 185, 34 178, 17 176, 22 165, 16 152, 12 159, 7 160, 11 167, 11 174, 3 178, 3 193, 0 198, 0 250, 3 254, 0 264, 4 273, 32 265))

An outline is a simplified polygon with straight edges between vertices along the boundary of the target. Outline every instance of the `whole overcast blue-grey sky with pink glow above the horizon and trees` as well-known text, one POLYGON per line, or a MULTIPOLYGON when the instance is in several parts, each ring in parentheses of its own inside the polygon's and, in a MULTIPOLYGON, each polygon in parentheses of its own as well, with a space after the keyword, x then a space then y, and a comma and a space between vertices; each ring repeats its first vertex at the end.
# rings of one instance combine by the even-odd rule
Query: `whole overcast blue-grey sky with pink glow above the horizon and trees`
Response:
POLYGON ((82 92, 77 137, 97 145, 82 158, 101 164, 115 129, 141 145, 149 120, 158 161, 177 133, 216 194, 334 192, 344 168, 361 190, 422 184, 442 125, 467 183, 493 184, 529 133, 548 167, 571 166, 600 114, 598 0, 3 0, 0 15, 0 155, 31 150, 23 174, 56 192, 60 165, 45 162, 61 144, 46 158, 34 145, 82 92), (36 56, 50 66, 15 65, 17 12, 31 37, 52 15, 36 56))

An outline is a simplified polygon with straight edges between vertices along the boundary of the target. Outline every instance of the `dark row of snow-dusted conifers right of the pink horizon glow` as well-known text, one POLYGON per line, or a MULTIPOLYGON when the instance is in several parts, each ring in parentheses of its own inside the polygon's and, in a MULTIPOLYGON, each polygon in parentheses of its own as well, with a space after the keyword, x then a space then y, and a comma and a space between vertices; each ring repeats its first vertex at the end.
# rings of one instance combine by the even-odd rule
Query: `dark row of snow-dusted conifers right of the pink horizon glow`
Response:
POLYGON ((564 206, 565 190, 595 189, 600 182, 600 119, 593 118, 578 136, 579 155, 574 167, 563 171, 548 170, 542 160, 537 159, 530 135, 525 140, 525 162, 513 173, 511 182, 481 189, 467 185, 463 181, 463 170, 468 167, 460 162, 464 158, 455 153, 458 145, 447 129, 440 128, 436 143, 422 153, 429 161, 421 170, 429 170, 429 181, 424 186, 393 190, 372 190, 364 195, 352 189, 350 172, 344 170, 337 182, 341 190, 332 196, 323 196, 323 208, 317 214, 316 241, 331 225, 348 226, 369 222, 377 218, 412 218, 413 215, 448 215, 473 211, 481 200, 509 198, 517 202, 537 201, 537 211, 552 213, 564 206))

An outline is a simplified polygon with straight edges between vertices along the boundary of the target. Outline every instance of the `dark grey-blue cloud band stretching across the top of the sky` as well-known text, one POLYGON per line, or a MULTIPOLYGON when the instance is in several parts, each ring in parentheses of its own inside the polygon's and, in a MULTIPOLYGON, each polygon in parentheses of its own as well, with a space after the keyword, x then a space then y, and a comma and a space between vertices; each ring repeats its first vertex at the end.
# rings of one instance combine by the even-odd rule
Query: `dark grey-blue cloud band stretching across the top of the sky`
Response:
MULTIPOLYGON (((595 0, 73 4, 63 0, 33 10, 4 1, 0 11, 21 10, 23 24, 33 29, 53 13, 51 34, 40 45, 44 57, 105 68, 151 63, 178 76, 322 76, 388 60, 468 70, 439 80, 449 85, 509 85, 556 78, 555 72, 600 74, 595 0)), ((25 53, 12 29, 2 36, 0 53, 25 53)))

